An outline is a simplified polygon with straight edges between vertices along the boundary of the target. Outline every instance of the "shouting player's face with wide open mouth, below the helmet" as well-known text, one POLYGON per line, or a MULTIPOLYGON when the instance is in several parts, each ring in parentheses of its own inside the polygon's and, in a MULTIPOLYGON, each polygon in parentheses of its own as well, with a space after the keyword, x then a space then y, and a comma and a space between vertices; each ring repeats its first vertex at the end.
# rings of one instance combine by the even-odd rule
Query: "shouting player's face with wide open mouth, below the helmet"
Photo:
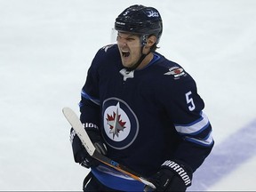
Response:
POLYGON ((141 56, 140 36, 118 32, 117 45, 125 68, 132 68, 141 56))

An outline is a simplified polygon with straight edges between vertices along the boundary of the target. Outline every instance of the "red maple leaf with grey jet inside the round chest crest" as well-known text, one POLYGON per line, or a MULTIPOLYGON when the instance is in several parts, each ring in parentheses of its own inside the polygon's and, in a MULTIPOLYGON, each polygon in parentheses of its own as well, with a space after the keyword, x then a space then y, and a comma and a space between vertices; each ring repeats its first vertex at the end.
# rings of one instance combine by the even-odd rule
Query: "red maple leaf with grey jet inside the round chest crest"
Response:
POLYGON ((118 109, 120 108, 119 102, 117 103, 117 105, 118 106, 116 107, 116 112, 113 112, 113 116, 107 114, 107 124, 110 126, 109 133, 113 134, 113 140, 115 139, 115 136, 119 136, 120 131, 124 132, 124 124, 126 124, 126 122, 122 121, 121 115, 119 115, 118 113, 118 109))

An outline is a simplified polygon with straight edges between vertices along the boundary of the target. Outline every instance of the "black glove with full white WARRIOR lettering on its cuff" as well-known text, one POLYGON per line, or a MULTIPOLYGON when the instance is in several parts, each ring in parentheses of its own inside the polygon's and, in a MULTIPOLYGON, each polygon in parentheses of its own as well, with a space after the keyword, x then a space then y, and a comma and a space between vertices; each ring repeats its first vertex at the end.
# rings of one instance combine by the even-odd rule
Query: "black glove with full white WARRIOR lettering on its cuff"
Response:
POLYGON ((167 160, 151 178, 156 189, 145 186, 144 191, 186 191, 191 185, 192 173, 182 162, 167 160))

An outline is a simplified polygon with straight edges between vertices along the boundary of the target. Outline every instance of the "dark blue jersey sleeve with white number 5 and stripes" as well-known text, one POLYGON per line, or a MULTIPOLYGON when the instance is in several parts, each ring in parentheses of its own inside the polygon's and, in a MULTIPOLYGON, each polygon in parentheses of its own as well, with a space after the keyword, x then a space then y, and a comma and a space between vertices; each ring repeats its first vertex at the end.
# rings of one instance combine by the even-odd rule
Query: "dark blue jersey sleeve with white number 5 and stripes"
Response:
POLYGON ((204 100, 188 74, 165 84, 162 95, 167 114, 182 138, 173 158, 189 164, 195 172, 210 154, 214 143, 212 125, 203 111, 204 100))

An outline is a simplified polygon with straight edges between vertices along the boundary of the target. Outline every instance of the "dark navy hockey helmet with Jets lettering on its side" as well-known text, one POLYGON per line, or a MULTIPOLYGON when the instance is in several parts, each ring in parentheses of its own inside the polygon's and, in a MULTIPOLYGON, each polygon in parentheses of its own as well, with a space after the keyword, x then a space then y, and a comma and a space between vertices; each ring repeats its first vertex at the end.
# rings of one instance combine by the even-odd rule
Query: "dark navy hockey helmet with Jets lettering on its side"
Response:
POLYGON ((141 36, 155 35, 157 44, 163 32, 163 23, 160 13, 155 8, 135 4, 118 15, 115 29, 141 36))

